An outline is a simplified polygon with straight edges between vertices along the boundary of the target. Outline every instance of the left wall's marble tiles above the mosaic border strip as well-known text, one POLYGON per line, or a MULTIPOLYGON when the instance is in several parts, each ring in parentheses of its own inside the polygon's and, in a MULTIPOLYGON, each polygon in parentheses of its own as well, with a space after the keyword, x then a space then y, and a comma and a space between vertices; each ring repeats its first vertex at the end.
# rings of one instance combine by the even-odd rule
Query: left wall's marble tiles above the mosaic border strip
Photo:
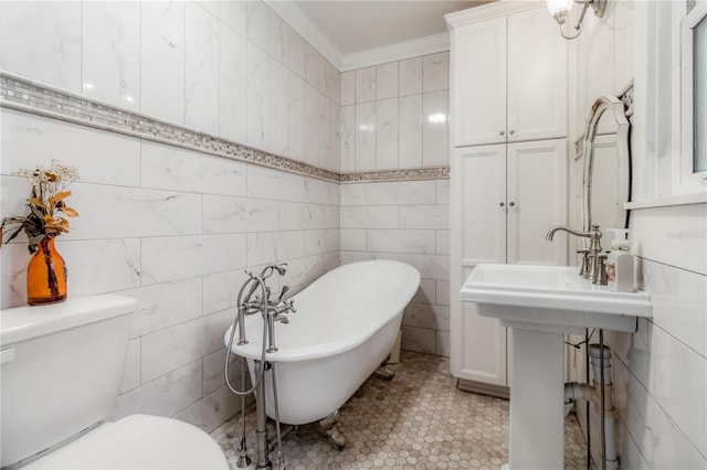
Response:
POLYGON ((340 74, 262 1, 0 2, 0 68, 339 170, 340 74))

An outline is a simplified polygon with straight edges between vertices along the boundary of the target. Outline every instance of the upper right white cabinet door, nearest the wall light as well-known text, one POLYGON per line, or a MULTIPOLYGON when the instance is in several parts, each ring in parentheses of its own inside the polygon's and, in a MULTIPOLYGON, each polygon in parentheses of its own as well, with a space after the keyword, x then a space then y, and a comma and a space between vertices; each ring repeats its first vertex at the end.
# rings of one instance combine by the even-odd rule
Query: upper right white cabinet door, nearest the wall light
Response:
POLYGON ((566 136, 567 44, 544 8, 508 15, 508 142, 566 136))

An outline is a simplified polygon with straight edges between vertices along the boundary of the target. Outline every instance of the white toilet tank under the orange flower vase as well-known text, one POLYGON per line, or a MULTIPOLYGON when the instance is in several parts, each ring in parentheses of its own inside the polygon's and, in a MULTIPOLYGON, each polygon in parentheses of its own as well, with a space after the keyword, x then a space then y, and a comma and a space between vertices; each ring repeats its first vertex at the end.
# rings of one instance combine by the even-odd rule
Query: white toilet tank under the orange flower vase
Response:
POLYGON ((103 295, 0 312, 1 467, 110 412, 135 305, 129 297, 103 295))

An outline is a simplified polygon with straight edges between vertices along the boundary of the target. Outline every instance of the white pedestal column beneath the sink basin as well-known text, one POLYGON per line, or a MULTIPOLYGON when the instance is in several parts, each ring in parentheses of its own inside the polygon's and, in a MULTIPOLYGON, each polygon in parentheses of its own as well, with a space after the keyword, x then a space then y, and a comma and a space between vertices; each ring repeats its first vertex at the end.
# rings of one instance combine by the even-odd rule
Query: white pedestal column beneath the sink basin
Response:
POLYGON ((510 470, 563 469, 564 335, 514 328, 511 338, 510 470))

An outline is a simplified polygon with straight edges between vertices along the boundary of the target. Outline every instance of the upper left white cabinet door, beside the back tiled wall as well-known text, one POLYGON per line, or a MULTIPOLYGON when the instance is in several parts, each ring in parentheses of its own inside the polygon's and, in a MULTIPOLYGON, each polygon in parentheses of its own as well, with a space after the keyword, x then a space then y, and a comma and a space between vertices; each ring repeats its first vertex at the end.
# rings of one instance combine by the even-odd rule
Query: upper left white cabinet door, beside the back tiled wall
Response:
POLYGON ((505 142, 506 19, 457 28, 452 41, 454 146, 505 142))

